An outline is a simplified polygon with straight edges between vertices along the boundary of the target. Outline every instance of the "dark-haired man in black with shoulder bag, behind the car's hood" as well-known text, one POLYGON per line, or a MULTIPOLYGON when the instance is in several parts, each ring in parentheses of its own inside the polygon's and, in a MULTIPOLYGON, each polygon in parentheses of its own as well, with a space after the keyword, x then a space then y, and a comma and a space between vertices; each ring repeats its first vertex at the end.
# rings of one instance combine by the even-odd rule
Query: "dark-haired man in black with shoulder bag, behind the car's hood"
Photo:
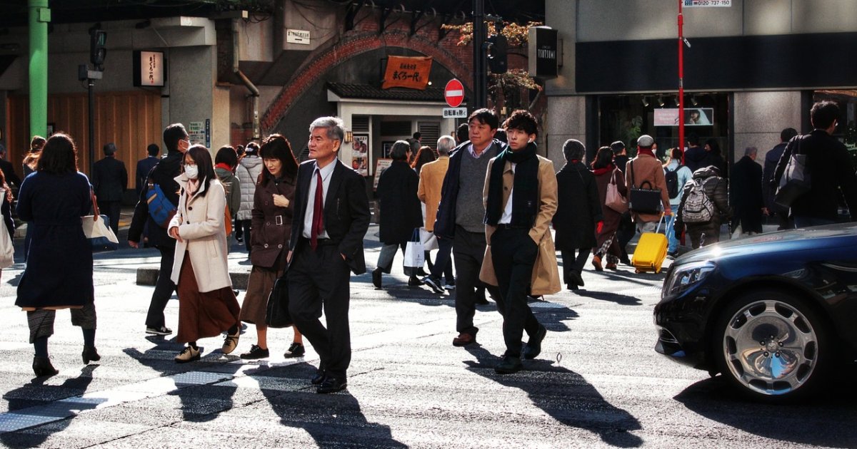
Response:
POLYGON ((845 145, 832 136, 839 119, 839 106, 831 101, 815 103, 810 109, 812 133, 788 141, 776 165, 775 185, 792 152, 806 155, 806 169, 812 180, 809 192, 795 198, 791 204, 794 227, 835 223, 839 217, 839 192, 848 204, 851 221, 857 221, 857 175, 845 145))

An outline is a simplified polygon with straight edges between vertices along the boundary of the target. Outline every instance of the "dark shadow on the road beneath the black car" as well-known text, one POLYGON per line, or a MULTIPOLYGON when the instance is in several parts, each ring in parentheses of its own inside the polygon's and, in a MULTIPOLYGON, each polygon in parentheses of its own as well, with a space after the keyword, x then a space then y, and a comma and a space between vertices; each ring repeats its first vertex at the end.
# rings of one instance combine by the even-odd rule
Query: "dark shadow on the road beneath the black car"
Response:
POLYGON ((832 382, 829 394, 810 402, 771 405, 746 399, 722 375, 698 381, 674 397, 714 422, 775 441, 823 447, 857 447, 857 388, 850 379, 832 382), (809 429, 812 429, 810 431, 809 429))

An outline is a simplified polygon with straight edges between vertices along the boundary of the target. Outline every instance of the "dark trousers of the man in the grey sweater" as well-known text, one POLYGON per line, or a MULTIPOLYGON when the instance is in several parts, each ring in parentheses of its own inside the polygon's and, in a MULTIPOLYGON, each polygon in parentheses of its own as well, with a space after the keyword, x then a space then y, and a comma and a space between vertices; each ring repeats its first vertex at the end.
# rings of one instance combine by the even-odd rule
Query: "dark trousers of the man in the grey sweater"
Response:
MULTIPOLYGON (((476 335, 479 332, 479 328, 473 325, 473 316, 476 315, 475 287, 486 287, 491 296, 500 298, 497 287, 485 286, 484 282, 479 281, 485 246, 485 233, 471 233, 464 227, 455 227, 455 238, 452 239, 452 257, 455 258, 455 269, 458 270, 455 278, 455 329, 460 334, 476 335)), ((505 309, 498 303, 497 310, 502 314, 505 309)))

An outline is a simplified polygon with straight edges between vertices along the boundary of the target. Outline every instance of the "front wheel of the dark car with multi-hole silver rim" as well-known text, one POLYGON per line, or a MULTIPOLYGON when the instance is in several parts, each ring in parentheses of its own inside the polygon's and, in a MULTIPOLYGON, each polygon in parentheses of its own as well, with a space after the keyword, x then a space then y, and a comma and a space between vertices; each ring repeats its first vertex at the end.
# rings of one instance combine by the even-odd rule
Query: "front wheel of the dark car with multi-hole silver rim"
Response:
POLYGON ((825 322, 806 301, 775 288, 747 292, 716 322, 713 355, 728 382, 765 402, 806 399, 832 363, 825 322))

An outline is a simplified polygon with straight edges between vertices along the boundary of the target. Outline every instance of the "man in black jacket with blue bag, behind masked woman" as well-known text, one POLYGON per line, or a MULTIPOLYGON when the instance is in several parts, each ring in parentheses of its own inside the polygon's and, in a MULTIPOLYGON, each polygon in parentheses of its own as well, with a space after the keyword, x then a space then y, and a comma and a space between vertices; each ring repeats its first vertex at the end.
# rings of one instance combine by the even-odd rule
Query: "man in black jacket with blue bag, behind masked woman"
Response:
MULTIPOLYGON (((184 152, 188 151, 190 147, 188 132, 184 130, 181 123, 175 123, 165 128, 164 145, 167 155, 149 172, 147 185, 149 182, 159 185, 166 198, 172 204, 178 205, 179 186, 173 178, 181 173, 184 152)), ((143 189, 140 193, 140 201, 137 203, 134 218, 131 219, 131 227, 128 229, 128 244, 134 248, 139 247, 143 225, 148 223, 149 244, 160 251, 161 264, 158 281, 155 282, 155 291, 152 293, 152 301, 149 303, 149 311, 146 316, 146 333, 169 335, 172 334, 172 329, 166 327, 164 309, 172 296, 172 292, 176 290, 176 284, 170 280, 172 263, 176 253, 176 239, 168 236, 166 229, 160 227, 149 216, 146 194, 147 189, 143 189)))

